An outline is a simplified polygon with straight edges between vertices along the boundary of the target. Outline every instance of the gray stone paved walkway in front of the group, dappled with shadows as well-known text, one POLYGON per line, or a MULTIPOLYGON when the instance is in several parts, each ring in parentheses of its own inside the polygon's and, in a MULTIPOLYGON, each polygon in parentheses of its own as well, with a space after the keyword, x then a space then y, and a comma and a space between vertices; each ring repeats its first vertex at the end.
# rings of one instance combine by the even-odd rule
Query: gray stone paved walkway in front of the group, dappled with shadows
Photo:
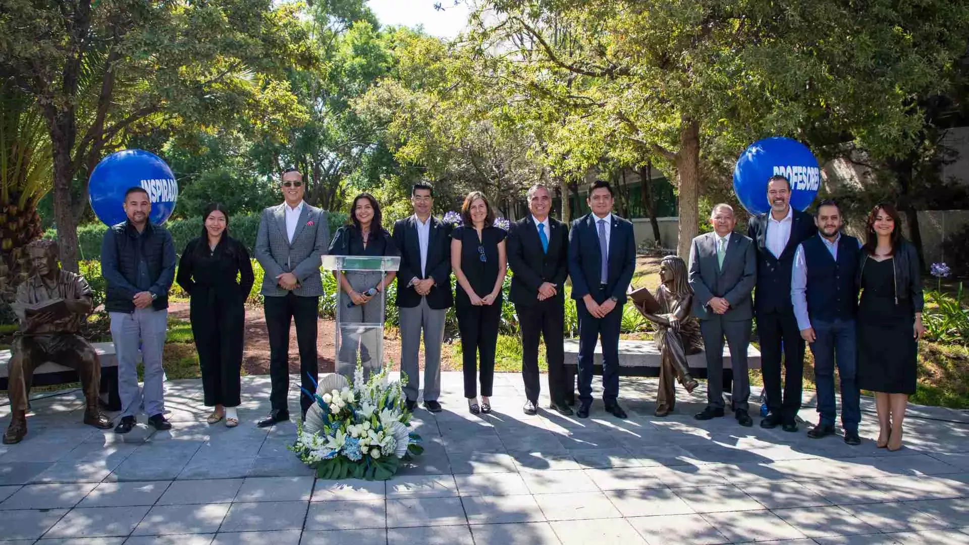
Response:
POLYGON ((873 412, 849 447, 695 421, 701 390, 655 418, 650 380, 623 380, 626 421, 601 401, 585 421, 525 416, 516 374, 496 376, 490 416, 467 412, 459 373, 443 386, 445 412, 414 420, 425 455, 387 483, 315 480, 286 450, 294 425, 253 424, 265 376, 243 379, 234 430, 204 423, 198 380, 167 383, 165 433, 82 426, 79 393, 34 401, 0 447, 0 543, 969 544, 969 424, 945 421, 962 411, 915 407, 889 453, 873 412))

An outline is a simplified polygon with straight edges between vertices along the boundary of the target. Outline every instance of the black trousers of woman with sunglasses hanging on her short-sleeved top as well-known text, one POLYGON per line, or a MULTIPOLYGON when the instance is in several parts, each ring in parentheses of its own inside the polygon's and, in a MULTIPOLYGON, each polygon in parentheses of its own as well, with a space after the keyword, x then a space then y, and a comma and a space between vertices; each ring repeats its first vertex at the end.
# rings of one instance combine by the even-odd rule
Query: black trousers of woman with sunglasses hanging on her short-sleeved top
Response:
POLYGON ((471 305, 459 302, 454 305, 457 330, 461 334, 461 360, 464 369, 464 397, 478 396, 478 381, 482 383, 482 396, 490 398, 494 383, 494 351, 498 342, 498 322, 501 320, 499 298, 491 305, 471 305), (481 355, 481 370, 476 377, 481 355))

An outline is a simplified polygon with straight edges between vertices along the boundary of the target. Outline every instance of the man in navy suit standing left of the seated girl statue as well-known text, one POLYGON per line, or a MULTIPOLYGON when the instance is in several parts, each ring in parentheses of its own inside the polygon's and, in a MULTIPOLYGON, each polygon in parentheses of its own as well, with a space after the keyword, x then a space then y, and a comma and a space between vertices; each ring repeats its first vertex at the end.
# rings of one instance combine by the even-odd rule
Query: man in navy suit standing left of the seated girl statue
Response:
POLYGON ((586 200, 592 212, 569 232, 569 276, 578 310, 578 411, 588 418, 592 404, 592 364, 596 341, 603 348, 603 401, 606 411, 626 418, 619 406, 619 327, 622 305, 636 270, 633 224, 612 213, 612 188, 596 180, 586 200))

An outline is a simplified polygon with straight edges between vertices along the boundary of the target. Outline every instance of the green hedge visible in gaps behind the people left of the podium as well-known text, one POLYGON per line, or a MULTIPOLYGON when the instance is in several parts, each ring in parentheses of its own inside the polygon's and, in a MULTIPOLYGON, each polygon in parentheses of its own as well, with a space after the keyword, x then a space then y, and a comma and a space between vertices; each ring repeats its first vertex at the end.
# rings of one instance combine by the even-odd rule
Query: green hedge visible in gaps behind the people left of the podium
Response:
MULTIPOLYGON (((249 248, 252 253, 256 245, 256 233, 259 231, 260 214, 234 215, 229 221, 229 230, 233 237, 242 240, 242 243, 249 248)), ((346 212, 327 212, 329 224, 329 234, 336 233, 336 230, 346 223, 346 212)), ((195 239, 202 232, 202 218, 193 217, 190 219, 173 219, 165 224, 165 227, 172 233, 175 243, 175 251, 179 254, 189 240, 195 239)), ((105 236, 105 227, 102 223, 88 223, 78 226, 78 246, 81 260, 101 259, 101 240, 105 236)), ((56 239, 57 233, 53 229, 47 229, 44 234, 45 239, 56 239)))

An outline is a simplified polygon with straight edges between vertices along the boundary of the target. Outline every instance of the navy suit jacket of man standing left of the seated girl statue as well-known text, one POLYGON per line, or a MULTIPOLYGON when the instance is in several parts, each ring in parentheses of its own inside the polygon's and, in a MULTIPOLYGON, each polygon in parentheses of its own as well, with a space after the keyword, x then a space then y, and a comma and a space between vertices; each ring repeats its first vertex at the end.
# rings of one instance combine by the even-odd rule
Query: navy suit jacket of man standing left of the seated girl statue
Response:
MULTIPOLYGON (((602 253, 599 251, 596 219, 595 214, 589 212, 573 222, 569 232, 569 276, 572 277, 572 299, 577 301, 590 293, 595 297, 599 292, 602 253)), ((636 238, 633 235, 633 223, 612 214, 607 297, 616 298, 619 304, 625 303, 626 291, 629 283, 633 281, 635 271, 636 238)), ((603 301, 596 300, 596 303, 603 301)))

